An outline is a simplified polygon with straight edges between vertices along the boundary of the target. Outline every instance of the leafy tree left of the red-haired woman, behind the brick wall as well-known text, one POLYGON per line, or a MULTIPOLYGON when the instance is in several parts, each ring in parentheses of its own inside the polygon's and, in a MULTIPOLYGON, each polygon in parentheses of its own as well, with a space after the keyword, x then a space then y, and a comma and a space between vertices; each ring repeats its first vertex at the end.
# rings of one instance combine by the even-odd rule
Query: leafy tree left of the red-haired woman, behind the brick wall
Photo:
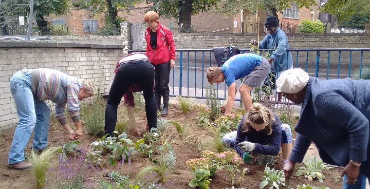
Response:
POLYGON ((105 26, 101 28, 102 34, 117 35, 121 33, 120 24, 125 17, 118 16, 118 10, 126 10, 130 13, 130 7, 141 1, 139 0, 83 0, 80 3, 91 9, 91 15, 101 15, 105 13, 105 26))

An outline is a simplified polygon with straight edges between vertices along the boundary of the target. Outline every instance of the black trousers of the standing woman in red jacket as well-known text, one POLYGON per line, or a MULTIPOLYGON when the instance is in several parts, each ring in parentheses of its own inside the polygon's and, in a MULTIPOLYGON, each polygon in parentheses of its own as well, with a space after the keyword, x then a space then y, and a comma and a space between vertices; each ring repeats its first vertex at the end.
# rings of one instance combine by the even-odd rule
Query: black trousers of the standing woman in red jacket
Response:
POLYGON ((170 87, 168 86, 170 82, 170 61, 163 64, 153 65, 155 67, 155 85, 154 93, 156 96, 169 96, 170 87))

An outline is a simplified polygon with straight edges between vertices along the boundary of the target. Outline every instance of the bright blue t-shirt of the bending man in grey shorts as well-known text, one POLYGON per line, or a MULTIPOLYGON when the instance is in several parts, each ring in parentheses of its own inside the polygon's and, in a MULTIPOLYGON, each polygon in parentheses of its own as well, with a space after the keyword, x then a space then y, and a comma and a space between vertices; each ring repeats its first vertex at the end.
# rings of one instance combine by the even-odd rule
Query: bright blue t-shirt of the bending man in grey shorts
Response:
POLYGON ((221 67, 225 74, 226 85, 230 86, 235 80, 246 77, 261 62, 262 56, 257 54, 246 53, 232 56, 221 67))

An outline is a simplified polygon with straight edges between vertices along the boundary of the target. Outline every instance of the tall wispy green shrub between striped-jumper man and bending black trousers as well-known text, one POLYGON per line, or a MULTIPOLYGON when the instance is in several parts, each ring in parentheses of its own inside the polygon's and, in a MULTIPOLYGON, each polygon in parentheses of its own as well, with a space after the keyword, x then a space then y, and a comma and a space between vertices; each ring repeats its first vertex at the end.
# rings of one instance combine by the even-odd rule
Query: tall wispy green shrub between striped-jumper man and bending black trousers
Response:
POLYGON ((99 88, 95 91, 93 102, 81 106, 81 116, 85 121, 87 133, 91 136, 104 134, 105 104, 102 98, 99 88))

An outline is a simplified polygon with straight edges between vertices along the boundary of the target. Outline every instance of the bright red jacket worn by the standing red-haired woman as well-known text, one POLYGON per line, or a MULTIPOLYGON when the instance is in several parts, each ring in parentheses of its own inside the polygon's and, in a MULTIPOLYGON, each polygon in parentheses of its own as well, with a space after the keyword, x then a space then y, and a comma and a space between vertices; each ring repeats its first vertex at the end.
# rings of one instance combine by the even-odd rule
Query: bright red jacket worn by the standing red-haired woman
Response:
POLYGON ((157 28, 157 47, 155 50, 150 45, 150 28, 145 30, 146 55, 152 64, 163 64, 175 58, 175 42, 172 37, 172 31, 158 23, 157 28))

